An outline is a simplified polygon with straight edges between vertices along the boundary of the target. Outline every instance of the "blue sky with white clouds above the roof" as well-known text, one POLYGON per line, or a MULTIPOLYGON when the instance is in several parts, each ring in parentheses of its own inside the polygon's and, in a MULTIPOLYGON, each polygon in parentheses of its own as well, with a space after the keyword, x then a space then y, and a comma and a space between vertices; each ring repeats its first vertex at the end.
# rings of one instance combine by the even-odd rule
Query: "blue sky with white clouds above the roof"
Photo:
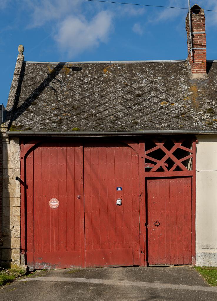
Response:
MULTIPOLYGON (((188 0, 117 2, 188 8, 188 0)), ((216 0, 190 2, 217 10, 216 0)), ((0 0, 0 104, 7 104, 20 44, 25 61, 182 60, 187 13, 85 0, 0 0)), ((217 59, 217 12, 205 15, 207 59, 217 59)))

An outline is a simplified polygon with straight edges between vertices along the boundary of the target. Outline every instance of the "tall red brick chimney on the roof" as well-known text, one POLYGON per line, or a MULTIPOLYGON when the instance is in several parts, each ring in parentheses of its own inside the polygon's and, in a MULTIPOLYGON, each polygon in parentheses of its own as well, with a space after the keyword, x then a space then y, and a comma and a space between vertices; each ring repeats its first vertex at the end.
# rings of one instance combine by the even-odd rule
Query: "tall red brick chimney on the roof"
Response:
POLYGON ((204 10, 197 4, 191 8, 191 36, 189 15, 185 20, 185 28, 188 38, 188 63, 191 69, 192 79, 205 79, 206 73, 206 32, 204 10), (192 38, 191 38, 192 37, 192 38), (192 52, 191 52, 192 40, 192 52))

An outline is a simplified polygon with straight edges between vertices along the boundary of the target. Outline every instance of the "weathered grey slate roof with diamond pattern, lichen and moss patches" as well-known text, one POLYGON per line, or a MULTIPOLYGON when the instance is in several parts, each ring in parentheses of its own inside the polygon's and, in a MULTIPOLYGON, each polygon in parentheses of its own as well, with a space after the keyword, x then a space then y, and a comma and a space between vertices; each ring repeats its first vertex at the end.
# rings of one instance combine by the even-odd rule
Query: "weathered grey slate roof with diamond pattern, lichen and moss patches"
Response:
POLYGON ((24 63, 10 130, 217 129, 217 63, 24 63))

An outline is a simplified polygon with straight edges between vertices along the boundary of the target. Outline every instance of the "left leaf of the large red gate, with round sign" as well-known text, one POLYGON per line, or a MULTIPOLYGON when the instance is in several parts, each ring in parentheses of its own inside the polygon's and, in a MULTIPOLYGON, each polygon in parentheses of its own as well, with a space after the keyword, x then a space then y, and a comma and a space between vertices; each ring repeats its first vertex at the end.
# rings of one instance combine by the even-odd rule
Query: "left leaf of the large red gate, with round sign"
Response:
POLYGON ((26 159, 27 262, 34 253, 35 269, 84 265, 82 161, 83 148, 70 143, 42 144, 26 159))

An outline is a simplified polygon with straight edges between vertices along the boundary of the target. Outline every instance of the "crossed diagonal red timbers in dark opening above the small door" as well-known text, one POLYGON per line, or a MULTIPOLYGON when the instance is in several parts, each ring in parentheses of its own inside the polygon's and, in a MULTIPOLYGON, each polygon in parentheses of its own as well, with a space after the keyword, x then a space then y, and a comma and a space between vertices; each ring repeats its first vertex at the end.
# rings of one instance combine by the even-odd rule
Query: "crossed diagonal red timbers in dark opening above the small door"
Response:
POLYGON ((186 144, 186 139, 182 138, 176 141, 174 138, 169 138, 163 139, 161 142, 152 139, 151 142, 155 146, 145 151, 145 162, 148 160, 156 164, 150 169, 150 172, 159 172, 162 169, 164 172, 175 170, 189 172, 189 162, 192 160, 193 150, 182 145, 186 144))

